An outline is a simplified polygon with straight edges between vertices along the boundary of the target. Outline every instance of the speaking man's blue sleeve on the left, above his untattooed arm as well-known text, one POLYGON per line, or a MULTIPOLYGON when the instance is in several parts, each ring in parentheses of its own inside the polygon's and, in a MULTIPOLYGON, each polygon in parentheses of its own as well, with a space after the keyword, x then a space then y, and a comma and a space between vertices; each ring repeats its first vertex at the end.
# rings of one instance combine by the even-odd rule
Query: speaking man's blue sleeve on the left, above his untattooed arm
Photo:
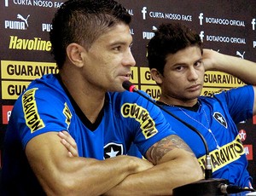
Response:
POLYGON ((27 89, 15 104, 15 122, 22 146, 36 135, 49 131, 67 130, 64 115, 65 102, 54 92, 44 89, 27 89), (47 97, 47 99, 45 99, 47 97))

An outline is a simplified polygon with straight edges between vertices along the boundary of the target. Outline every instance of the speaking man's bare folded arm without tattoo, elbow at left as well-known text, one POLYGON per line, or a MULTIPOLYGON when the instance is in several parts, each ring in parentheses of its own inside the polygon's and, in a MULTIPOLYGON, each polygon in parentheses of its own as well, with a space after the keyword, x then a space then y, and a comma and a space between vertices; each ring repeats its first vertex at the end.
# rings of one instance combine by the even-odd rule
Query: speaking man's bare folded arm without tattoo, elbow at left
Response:
POLYGON ((57 132, 49 132, 26 145, 26 157, 47 195, 101 195, 125 177, 153 166, 129 156, 106 160, 73 157, 72 150, 61 142, 57 132))

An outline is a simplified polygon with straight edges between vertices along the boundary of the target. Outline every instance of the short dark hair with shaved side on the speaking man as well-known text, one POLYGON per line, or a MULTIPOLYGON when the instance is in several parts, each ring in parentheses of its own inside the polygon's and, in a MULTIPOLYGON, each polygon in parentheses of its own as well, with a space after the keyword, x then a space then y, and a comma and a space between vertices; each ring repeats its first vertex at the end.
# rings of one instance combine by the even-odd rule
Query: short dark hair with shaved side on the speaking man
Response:
POLYGON ((68 44, 79 43, 90 49, 96 38, 120 22, 129 25, 131 15, 113 0, 69 0, 63 3, 55 13, 49 32, 51 53, 57 66, 63 66, 68 44))

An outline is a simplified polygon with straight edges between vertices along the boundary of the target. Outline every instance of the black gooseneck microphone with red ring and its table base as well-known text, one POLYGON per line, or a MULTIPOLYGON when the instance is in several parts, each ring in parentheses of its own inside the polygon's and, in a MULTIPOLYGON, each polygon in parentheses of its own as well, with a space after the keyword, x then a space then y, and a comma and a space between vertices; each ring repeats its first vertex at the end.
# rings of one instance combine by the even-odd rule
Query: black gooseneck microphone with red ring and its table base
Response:
POLYGON ((147 101, 152 102, 155 106, 159 107, 161 110, 165 111, 173 118, 176 118, 181 123, 185 124, 189 127, 190 130, 195 131, 197 135, 200 136, 201 140, 203 141, 204 147, 206 148, 206 165, 205 165, 205 179, 192 182, 181 187, 176 187, 173 189, 172 194, 173 196, 183 196, 183 195, 196 195, 196 196, 212 196, 212 195, 226 195, 227 193, 240 193, 242 191, 255 191, 249 188, 241 188, 230 185, 230 182, 226 179, 217 179, 212 178, 212 164, 211 164, 211 156, 209 153, 207 141, 201 135, 199 130, 196 130, 191 124, 183 121, 183 119, 178 118, 172 112, 166 110, 165 107, 162 107, 160 104, 156 103, 153 99, 150 99, 148 96, 144 95, 140 92, 134 84, 131 84, 130 81, 124 81, 122 84, 123 88, 130 91, 135 92, 138 95, 143 96, 147 101))

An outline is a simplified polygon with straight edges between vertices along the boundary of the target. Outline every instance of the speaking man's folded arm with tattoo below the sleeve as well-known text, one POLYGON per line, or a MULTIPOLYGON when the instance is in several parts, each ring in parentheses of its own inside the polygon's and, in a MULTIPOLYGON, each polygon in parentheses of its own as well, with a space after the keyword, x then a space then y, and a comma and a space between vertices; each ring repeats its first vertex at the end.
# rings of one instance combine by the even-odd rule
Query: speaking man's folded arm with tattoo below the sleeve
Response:
POLYGON ((106 195, 172 195, 172 189, 203 178, 194 153, 177 135, 170 135, 146 153, 154 167, 127 176, 106 195))

